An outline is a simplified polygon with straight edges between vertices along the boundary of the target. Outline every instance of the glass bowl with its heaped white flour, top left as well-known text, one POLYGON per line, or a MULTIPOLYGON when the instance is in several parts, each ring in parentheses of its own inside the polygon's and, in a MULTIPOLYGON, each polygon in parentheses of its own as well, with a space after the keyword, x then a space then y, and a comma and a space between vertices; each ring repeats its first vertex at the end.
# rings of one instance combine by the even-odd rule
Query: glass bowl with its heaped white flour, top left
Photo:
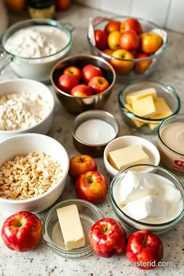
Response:
POLYGON ((19 77, 48 83, 55 63, 70 54, 72 27, 50 19, 29 19, 8 28, 1 43, 5 60, 1 71, 10 63, 19 77))

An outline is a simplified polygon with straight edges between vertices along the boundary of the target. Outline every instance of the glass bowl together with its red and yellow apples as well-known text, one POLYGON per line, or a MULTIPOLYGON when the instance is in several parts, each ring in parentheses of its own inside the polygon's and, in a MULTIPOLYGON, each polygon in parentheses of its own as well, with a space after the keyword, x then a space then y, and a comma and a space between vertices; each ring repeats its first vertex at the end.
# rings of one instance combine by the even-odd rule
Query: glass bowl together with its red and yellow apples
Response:
POLYGON ((157 70, 168 45, 164 30, 140 18, 98 19, 89 23, 90 53, 111 63, 119 82, 144 79, 157 70))

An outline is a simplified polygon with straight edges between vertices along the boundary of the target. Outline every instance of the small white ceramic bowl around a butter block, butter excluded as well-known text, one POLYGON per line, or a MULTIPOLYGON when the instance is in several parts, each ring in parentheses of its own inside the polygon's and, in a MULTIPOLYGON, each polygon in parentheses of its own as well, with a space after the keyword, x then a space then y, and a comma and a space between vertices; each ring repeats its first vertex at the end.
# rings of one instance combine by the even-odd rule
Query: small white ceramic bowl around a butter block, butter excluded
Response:
MULTIPOLYGON (((160 162, 160 155, 157 148, 148 140, 138 136, 121 136, 111 141, 104 150, 104 164, 110 177, 116 176, 119 171, 114 169, 108 162, 108 153, 113 150, 122 149, 132 145, 139 145, 144 152, 149 156, 149 163, 158 166, 160 162)), ((149 170, 152 172, 152 169, 149 170)))

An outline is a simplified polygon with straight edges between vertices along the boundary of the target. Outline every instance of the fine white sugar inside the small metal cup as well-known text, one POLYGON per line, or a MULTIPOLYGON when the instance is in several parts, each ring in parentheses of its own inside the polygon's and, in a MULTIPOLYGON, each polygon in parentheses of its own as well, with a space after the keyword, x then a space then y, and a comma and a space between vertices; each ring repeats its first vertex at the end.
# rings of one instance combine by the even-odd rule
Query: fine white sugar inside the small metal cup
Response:
POLYGON ((76 137, 90 145, 105 144, 114 139, 116 132, 106 121, 91 119, 82 123, 75 132, 76 137))

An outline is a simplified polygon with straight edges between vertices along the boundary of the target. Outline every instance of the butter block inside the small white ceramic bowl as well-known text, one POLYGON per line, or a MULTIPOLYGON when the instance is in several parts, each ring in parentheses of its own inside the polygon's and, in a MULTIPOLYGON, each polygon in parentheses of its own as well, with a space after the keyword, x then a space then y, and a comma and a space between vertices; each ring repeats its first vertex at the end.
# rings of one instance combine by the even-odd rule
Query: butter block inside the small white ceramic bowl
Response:
POLYGON ((121 171, 126 167, 136 164, 148 164, 149 156, 138 145, 109 152, 110 165, 121 171))

